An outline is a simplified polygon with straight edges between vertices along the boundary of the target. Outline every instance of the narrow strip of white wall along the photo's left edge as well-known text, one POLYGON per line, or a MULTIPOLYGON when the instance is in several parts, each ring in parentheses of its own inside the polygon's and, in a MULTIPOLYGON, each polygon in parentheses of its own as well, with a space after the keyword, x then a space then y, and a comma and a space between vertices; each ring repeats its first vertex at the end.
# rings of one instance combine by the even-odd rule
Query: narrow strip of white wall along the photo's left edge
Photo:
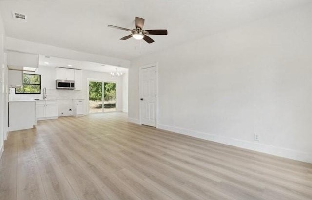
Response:
POLYGON ((4 38, 5 31, 3 26, 2 17, 0 14, 0 158, 3 152, 4 140, 6 139, 7 131, 7 67, 4 55, 4 38))

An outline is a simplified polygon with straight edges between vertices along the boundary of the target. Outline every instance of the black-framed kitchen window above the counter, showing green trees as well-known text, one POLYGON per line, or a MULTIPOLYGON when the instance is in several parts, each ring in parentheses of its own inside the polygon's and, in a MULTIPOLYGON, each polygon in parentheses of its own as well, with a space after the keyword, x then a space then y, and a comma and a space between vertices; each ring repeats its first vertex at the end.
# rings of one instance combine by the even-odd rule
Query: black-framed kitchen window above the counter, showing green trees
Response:
POLYGON ((16 88, 16 94, 40 94, 41 93, 41 75, 23 74, 24 85, 16 88))

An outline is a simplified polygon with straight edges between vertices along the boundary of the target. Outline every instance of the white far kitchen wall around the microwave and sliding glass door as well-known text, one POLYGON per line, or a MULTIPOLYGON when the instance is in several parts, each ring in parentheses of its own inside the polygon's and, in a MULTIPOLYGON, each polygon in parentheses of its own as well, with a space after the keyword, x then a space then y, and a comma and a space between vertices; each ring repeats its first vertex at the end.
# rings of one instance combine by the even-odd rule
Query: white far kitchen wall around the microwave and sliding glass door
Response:
MULTIPOLYGON (((32 72, 25 72, 32 73, 32 72)), ((123 87, 123 77, 128 77, 128 74, 124 74, 122 77, 111 77, 109 73, 94 72, 94 71, 82 71, 82 90, 57 90, 55 89, 56 80, 56 68, 39 66, 38 71, 33 74, 41 75, 41 94, 15 94, 15 89, 10 89, 9 100, 34 100, 43 98, 43 88, 47 89, 47 99, 56 99, 59 104, 59 116, 72 115, 68 111, 70 102, 73 99, 85 99, 85 114, 88 114, 88 79, 103 80, 109 82, 116 82, 116 109, 117 111, 123 111, 123 105, 128 105, 128 97, 123 97, 125 93, 123 90, 128 88, 123 87), (61 115, 60 113, 63 113, 61 115)))

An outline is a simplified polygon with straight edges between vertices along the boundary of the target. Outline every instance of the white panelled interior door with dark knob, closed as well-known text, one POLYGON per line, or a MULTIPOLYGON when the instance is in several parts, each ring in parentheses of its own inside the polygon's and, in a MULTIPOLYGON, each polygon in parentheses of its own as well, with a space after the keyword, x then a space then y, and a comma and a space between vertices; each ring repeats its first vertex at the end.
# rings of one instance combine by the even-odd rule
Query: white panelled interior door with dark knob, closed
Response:
POLYGON ((141 123, 156 127, 156 66, 140 72, 141 123))

